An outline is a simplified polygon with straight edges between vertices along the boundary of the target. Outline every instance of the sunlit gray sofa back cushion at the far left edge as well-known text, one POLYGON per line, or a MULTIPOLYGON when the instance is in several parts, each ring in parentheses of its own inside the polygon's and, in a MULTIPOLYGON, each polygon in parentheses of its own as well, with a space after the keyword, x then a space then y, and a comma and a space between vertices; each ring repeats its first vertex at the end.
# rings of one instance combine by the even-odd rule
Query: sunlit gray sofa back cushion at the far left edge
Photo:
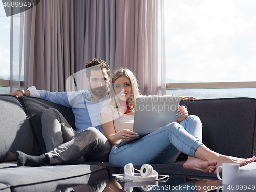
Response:
POLYGON ((0 106, 0 162, 15 161, 17 150, 40 155, 32 126, 19 100, 0 95, 0 106))

